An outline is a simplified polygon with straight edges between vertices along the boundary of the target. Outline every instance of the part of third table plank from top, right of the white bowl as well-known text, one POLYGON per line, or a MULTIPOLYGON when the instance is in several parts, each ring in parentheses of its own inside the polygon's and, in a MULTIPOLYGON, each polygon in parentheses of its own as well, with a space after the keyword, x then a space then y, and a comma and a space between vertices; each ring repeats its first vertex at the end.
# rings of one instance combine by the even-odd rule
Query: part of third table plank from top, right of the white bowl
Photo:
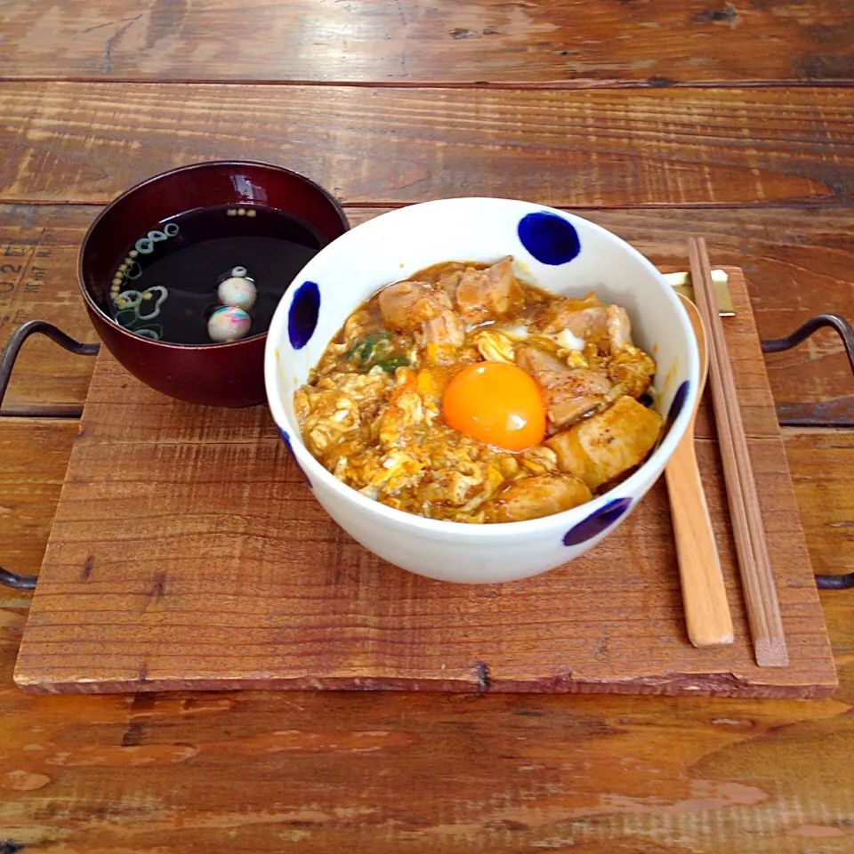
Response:
MULTIPOLYGON (((854 323, 854 216, 818 208, 754 211, 589 212, 662 269, 684 270, 685 240, 705 235, 715 265, 741 267, 763 338, 827 311, 854 323)), ((587 215, 587 214, 583 214, 587 215)), ((854 425, 854 377, 839 337, 822 330, 765 357, 781 421, 854 425)))

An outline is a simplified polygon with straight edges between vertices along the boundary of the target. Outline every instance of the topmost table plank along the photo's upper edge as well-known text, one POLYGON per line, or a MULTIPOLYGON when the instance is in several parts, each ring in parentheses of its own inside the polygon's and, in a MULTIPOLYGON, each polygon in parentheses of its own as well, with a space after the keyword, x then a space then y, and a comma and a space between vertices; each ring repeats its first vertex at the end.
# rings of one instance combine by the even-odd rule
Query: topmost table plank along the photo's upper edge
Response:
POLYGON ((854 79, 847 0, 160 0, 138 8, 6 0, 0 8, 5 77, 568 86, 854 79))

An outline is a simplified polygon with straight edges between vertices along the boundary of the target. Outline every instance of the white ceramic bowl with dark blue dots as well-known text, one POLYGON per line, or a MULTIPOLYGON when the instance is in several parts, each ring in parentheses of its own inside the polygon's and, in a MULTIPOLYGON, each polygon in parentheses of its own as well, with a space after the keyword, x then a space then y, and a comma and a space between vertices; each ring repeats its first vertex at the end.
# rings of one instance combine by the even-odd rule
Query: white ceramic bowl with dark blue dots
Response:
POLYGON ((270 409, 310 487, 332 518, 367 549, 431 578, 495 584, 578 557, 616 528, 664 470, 697 398, 697 342, 678 297, 632 246, 580 217, 503 198, 411 205, 359 225, 321 250, 294 279, 270 324, 264 361, 270 409), (350 312, 375 291, 431 264, 495 262, 555 294, 594 291, 632 318, 632 336, 657 360, 656 408, 671 421, 631 477, 553 516, 471 525, 394 510, 344 486, 310 455, 294 417, 305 382, 350 312), (673 411, 672 410, 673 407, 673 411))

